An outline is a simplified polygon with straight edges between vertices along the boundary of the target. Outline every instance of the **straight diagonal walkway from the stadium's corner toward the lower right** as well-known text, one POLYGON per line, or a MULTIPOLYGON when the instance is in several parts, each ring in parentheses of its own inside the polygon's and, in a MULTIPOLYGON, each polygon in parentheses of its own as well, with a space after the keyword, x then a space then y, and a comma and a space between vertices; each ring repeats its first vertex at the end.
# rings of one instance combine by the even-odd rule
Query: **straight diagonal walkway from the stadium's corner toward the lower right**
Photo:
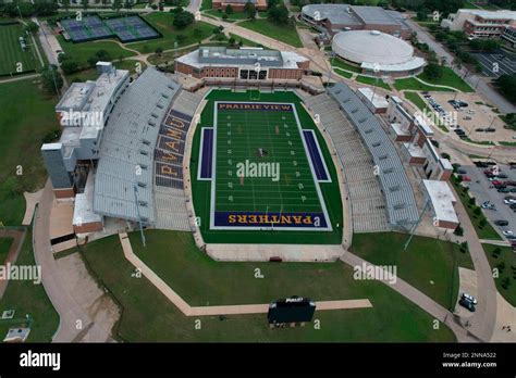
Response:
MULTIPOLYGON (((351 266, 374 266, 373 264, 368 263, 367 261, 358 257, 357 255, 346 252, 341 260, 351 266), (365 265, 363 265, 365 264, 365 265)), ((379 267, 377 267, 379 268, 379 267)), ((388 277, 385 274, 384 277, 388 277)), ((454 315, 444 308, 442 305, 433 301, 428 295, 423 294, 421 291, 417 290, 413 286, 405 282, 403 279, 397 277, 395 284, 389 282, 389 279, 385 278, 381 282, 388 285, 393 290, 397 291, 400 294, 408 299, 410 302, 417 304, 419 307, 425 310, 435 319, 441 323, 444 323, 450 329, 455 333, 457 341, 459 342, 478 342, 479 340, 470 335, 466 329, 464 329, 455 319, 454 315)), ((489 340, 489 339, 488 339, 489 340)))

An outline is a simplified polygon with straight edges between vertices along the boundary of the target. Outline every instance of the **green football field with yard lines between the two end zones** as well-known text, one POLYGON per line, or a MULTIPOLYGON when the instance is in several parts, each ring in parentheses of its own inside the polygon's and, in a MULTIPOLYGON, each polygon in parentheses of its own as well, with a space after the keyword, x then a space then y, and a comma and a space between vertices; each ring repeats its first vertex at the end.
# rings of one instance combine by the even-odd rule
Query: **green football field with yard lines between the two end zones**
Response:
POLYGON ((257 111, 220 110, 217 104, 214 211, 325 213, 295 106, 257 111))

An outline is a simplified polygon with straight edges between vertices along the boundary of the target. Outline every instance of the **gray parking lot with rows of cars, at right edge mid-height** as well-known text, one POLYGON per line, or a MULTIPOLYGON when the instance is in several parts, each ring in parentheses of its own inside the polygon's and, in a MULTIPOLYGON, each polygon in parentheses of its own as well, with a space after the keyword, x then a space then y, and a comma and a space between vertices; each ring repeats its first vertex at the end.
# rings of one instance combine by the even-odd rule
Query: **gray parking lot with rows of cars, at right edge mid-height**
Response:
MULTIPOLYGON (((501 181, 516 181, 516 169, 511 169, 508 165, 499 165, 501 174, 507 175, 507 178, 500 178, 501 181)), ((507 220, 508 225, 500 227, 493 224, 493 227, 497 230, 511 230, 516 235, 516 212, 514 212, 508 204, 504 203, 506 197, 513 197, 516 199, 516 192, 501 193, 493 187, 483 172, 488 168, 477 167, 475 165, 463 165, 460 169, 465 171, 463 178, 466 177, 468 180, 470 193, 477 199, 477 204, 481 205, 484 202, 489 202, 494 205, 496 210, 482 210, 486 217, 493 224, 495 220, 507 220)), ((507 188, 516 188, 507 186, 507 188)))

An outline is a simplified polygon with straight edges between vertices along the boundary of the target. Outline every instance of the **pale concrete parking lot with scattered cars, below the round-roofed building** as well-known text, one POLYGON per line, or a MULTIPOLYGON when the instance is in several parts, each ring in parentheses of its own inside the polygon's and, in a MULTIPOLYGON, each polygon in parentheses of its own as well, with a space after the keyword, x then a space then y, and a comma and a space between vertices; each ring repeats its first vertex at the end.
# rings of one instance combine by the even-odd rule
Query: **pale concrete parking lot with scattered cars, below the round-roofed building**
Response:
MULTIPOLYGON (((472 141, 490 142, 490 141, 516 141, 516 131, 504 128, 504 122, 500 119, 499 114, 493 112, 492 108, 483 104, 480 98, 475 93, 439 93, 432 92, 432 98, 440 104, 451 118, 455 122, 444 123, 445 127, 453 130, 456 123, 464 135, 472 141), (454 109, 449 103, 451 100, 456 100, 467 103, 467 106, 454 109), (482 129, 482 130, 480 130, 482 129), (491 129, 492 133, 486 131, 491 129)), ((428 99, 426 99, 428 101, 428 99)), ((458 136, 453 133, 453 138, 458 136)))

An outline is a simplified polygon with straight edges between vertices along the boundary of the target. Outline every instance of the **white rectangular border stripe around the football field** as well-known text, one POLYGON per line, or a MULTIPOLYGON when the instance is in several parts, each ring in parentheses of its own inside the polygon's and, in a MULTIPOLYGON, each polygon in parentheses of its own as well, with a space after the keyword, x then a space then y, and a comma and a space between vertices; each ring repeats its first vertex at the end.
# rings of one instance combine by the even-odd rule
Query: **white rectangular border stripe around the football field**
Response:
POLYGON ((211 201, 210 201, 210 229, 218 230, 218 229, 223 229, 223 230, 273 230, 273 226, 270 227, 254 227, 254 226, 234 226, 234 227, 229 227, 229 226, 216 226, 214 225, 214 206, 216 206, 216 184, 217 184, 217 169, 216 169, 216 160, 217 160, 217 121, 218 121, 218 104, 219 102, 223 103, 250 103, 250 104, 266 104, 266 103, 271 103, 271 104, 287 104, 291 105, 292 109, 294 110, 294 118, 296 119, 297 124, 297 129, 299 131, 299 137, 303 141, 303 147, 305 148, 305 154, 308 160, 308 165, 310 166, 311 171, 311 177, 314 179, 314 185, 316 187, 317 196, 319 197, 319 201, 321 203, 321 209, 322 209, 322 214, 324 215, 324 218, 327 220, 327 227, 277 227, 277 230, 288 230, 288 231, 332 231, 333 227, 331 224, 330 216, 328 215, 328 210, 327 210, 327 204, 324 201, 324 197, 321 193, 321 189, 319 187, 319 181, 317 180, 317 175, 314 169, 314 165, 311 164, 311 158, 309 156, 309 150, 306 144, 305 136, 303 135, 303 128, 300 126, 299 117, 297 116, 297 109, 294 103, 288 103, 288 102, 251 102, 251 101, 213 101, 214 109, 213 109, 213 156, 212 159, 212 166, 211 166, 211 201))

